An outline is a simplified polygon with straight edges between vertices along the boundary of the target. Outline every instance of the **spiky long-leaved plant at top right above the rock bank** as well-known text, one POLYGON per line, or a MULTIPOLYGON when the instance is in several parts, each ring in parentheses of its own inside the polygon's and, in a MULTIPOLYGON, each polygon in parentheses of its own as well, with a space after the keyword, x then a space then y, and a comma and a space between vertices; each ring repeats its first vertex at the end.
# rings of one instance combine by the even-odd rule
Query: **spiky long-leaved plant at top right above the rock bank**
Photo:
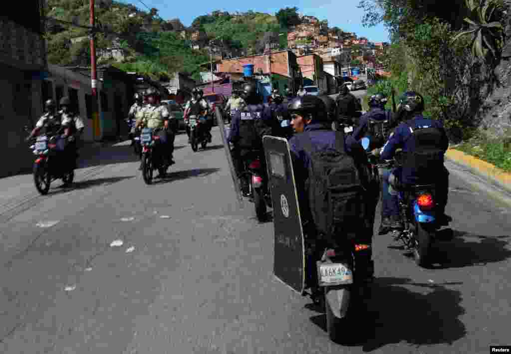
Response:
POLYGON ((498 0, 465 0, 465 2, 471 18, 465 17, 464 21, 470 28, 454 36, 453 41, 471 35, 474 56, 485 58, 488 52, 491 52, 496 57, 501 46, 503 28, 499 21, 492 19, 501 2, 498 0))

